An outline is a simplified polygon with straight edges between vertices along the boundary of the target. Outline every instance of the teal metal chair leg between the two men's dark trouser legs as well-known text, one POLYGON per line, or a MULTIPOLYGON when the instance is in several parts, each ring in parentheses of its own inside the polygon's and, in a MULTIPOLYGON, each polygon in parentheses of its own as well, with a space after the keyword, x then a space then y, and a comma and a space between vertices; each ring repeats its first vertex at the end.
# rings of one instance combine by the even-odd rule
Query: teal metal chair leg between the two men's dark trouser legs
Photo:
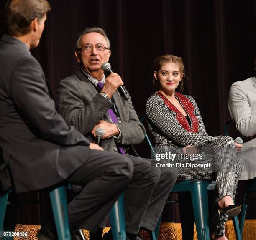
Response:
POLYGON ((110 210, 110 225, 111 225, 113 240, 126 239, 123 192, 110 210))

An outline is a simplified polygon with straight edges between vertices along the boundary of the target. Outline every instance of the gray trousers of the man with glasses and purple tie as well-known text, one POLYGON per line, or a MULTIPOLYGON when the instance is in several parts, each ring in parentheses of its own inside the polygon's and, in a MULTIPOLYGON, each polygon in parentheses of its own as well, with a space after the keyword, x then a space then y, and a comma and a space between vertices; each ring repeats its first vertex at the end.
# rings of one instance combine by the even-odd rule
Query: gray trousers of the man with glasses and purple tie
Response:
POLYGON ((137 234, 140 227, 154 231, 177 173, 161 173, 151 167, 150 159, 126 156, 134 165, 133 177, 125 191, 126 231, 137 234))

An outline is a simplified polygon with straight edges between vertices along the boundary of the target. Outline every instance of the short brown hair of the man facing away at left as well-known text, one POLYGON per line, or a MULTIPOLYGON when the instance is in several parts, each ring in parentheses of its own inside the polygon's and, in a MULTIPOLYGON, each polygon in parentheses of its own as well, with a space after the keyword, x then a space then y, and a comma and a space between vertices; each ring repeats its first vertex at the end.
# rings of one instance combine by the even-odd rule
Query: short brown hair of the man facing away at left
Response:
POLYGON ((18 37, 31 31, 30 23, 40 21, 51 9, 46 0, 9 0, 5 7, 5 24, 8 33, 18 37))

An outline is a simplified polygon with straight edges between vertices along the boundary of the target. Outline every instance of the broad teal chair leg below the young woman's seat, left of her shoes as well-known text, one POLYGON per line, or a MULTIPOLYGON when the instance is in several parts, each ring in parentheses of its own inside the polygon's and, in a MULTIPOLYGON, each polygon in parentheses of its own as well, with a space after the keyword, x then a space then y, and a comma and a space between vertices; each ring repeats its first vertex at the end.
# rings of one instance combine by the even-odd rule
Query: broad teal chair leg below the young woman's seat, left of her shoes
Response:
POLYGON ((206 181, 191 181, 190 192, 198 240, 209 240, 208 190, 206 181))

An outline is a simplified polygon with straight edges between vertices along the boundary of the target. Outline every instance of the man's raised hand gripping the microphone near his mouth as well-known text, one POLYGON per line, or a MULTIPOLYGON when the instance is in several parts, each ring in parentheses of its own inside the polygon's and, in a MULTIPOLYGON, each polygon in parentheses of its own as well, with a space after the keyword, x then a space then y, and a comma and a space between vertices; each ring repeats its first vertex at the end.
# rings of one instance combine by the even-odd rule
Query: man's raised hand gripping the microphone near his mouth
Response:
POLYGON ((116 89, 123 85, 122 78, 117 73, 111 73, 106 79, 102 92, 107 93, 111 99, 116 89))

